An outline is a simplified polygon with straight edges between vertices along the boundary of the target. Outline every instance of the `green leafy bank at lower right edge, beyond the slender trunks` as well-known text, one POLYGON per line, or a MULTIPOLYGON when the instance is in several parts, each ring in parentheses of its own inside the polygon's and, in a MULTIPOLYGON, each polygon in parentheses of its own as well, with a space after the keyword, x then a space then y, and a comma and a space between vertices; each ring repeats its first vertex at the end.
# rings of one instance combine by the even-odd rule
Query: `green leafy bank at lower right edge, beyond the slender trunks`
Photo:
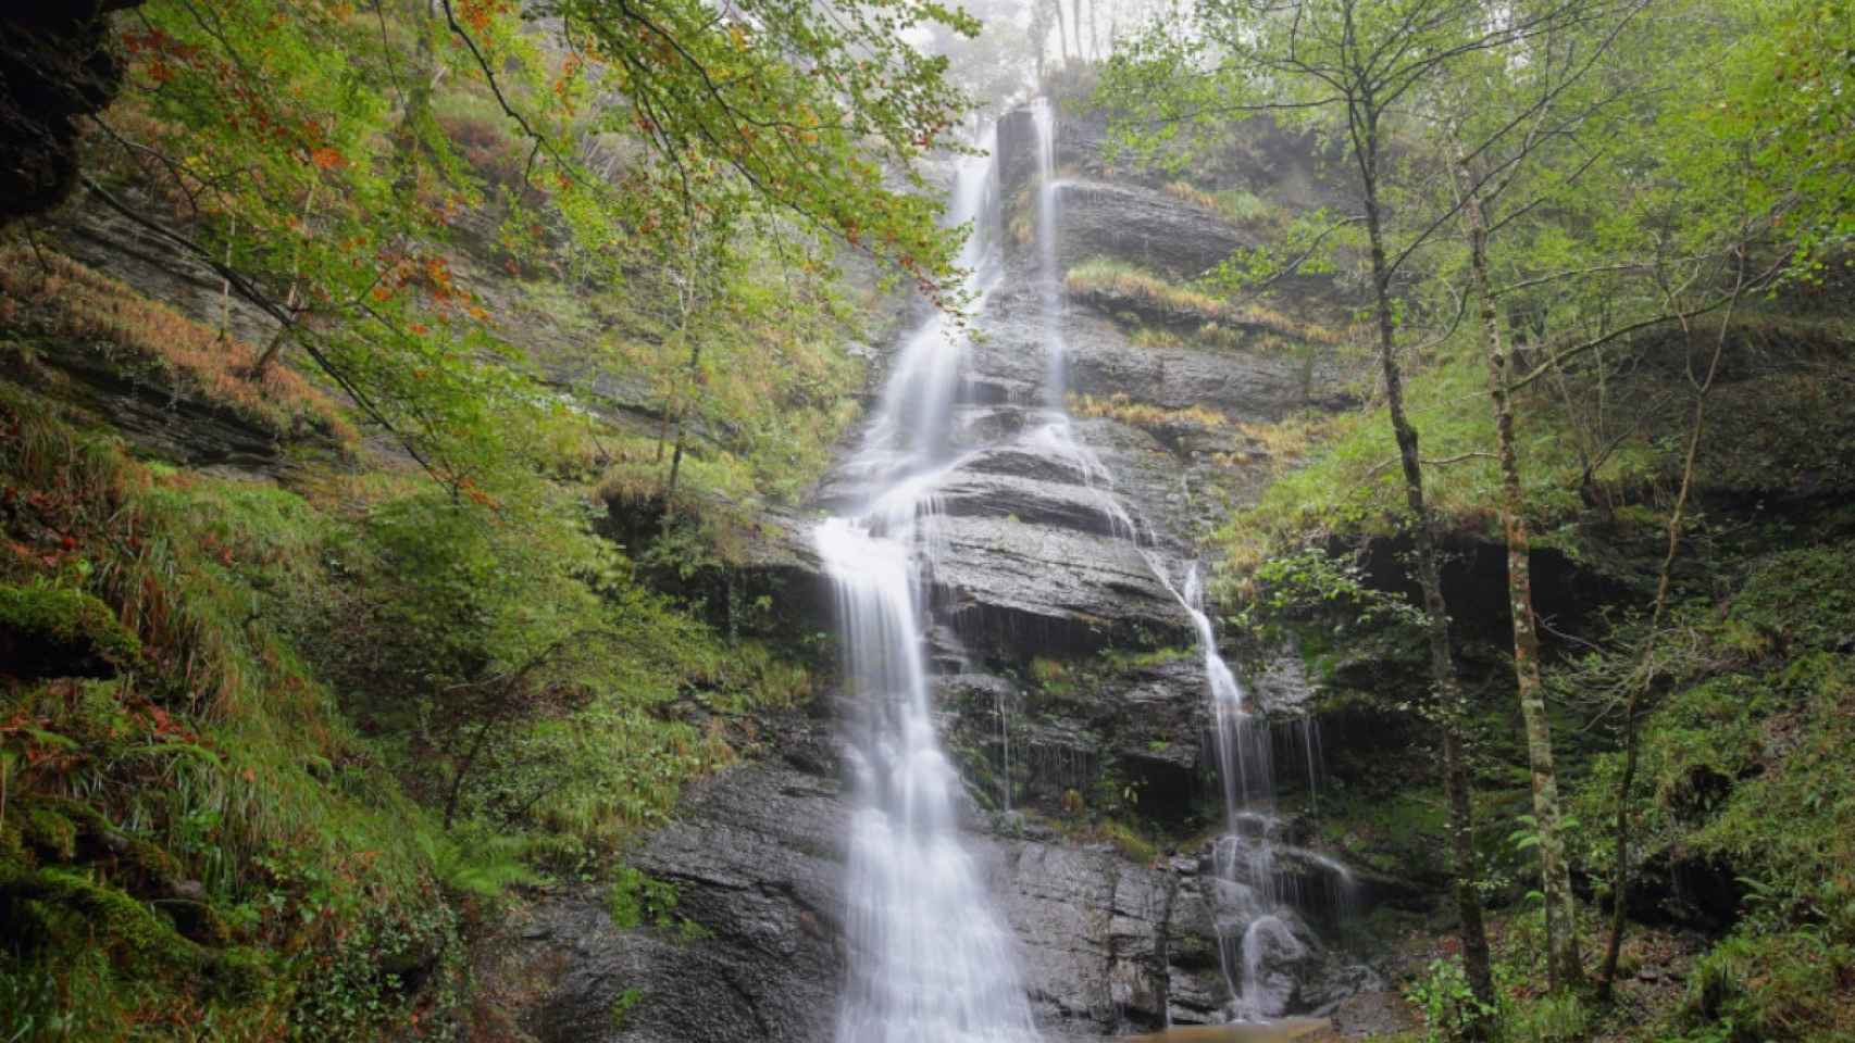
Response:
MULTIPOLYGON (((1655 669, 1668 693, 1642 721, 1634 858, 1731 873, 1742 895, 1731 934, 1708 947, 1657 1037, 1749 1043, 1835 1037, 1855 973, 1855 622, 1851 547, 1775 550, 1716 576, 1716 597, 1671 613, 1655 669)), ((1627 628, 1625 628, 1625 634, 1627 628)), ((1634 641, 1612 652, 1636 669, 1634 641)), ((1603 687, 1605 656, 1573 684, 1603 687)), ((1616 813, 1618 756, 1601 754, 1575 793, 1586 821, 1616 813)), ((1608 830, 1584 860, 1608 874, 1608 830)))

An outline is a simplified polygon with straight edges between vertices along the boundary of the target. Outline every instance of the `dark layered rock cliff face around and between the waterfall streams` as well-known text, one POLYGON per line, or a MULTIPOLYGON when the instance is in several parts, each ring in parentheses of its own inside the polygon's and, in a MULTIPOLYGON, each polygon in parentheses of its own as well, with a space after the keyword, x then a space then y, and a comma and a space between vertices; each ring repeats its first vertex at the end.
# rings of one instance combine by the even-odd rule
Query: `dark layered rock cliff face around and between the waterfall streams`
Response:
MULTIPOLYGON (((1013 113, 1000 128, 1002 189, 1017 206, 1028 206, 1035 169, 1026 120, 1013 113)), ((1293 157, 1284 141, 1273 148, 1293 157)), ((1065 124, 1059 156, 1087 176, 1059 196, 1067 263, 1113 258, 1180 278, 1250 241, 1152 183, 1115 180, 1098 126, 1065 124)), ((1287 167, 1276 180, 1306 180, 1313 163, 1302 154, 1287 167)), ((1076 419, 1094 461, 1052 452, 1030 246, 1011 248, 1007 265, 966 359, 955 441, 968 452, 939 482, 931 576, 939 726, 966 780, 966 841, 989 867, 1054 1037, 1215 1021, 1230 995, 1209 848, 1117 847, 1078 823, 1113 804, 1124 819, 1176 826, 1217 804, 1206 678, 1154 563, 1178 582, 1204 528, 1267 482, 1267 452, 1239 424, 1339 396, 1343 371, 1319 350, 1291 358, 1280 345, 1143 345, 1113 300, 1072 302, 1067 387, 1115 408, 1076 419), (1145 556, 1109 521, 1107 496, 1148 534, 1145 556)), ((838 504, 850 485, 827 480, 818 504, 838 504)), ((790 578, 814 567, 803 535, 788 532, 768 569, 790 578)), ((1291 704, 1304 691, 1295 660, 1258 674, 1265 700, 1291 704)), ((560 973, 540 987, 527 1028, 562 1043, 829 1039, 846 960, 838 719, 820 710, 777 723, 777 760, 714 778, 638 848, 634 865, 673 884, 679 915, 707 936, 616 930, 597 895, 538 906, 514 952, 560 973)), ((1311 863, 1282 873, 1308 893, 1326 880, 1311 863)), ((1267 982, 1280 1010, 1330 1012, 1371 984, 1356 958, 1304 924, 1297 932, 1315 945, 1267 982)))

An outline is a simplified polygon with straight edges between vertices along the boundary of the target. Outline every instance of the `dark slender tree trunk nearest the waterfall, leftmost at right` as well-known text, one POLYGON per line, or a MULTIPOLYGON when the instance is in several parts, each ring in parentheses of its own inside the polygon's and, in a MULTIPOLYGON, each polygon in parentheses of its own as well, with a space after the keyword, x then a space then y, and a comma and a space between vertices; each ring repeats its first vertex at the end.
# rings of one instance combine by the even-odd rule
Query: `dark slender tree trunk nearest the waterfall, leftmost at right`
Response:
MULTIPOLYGON (((1369 120, 1369 117, 1367 117, 1369 120)), ((1417 585, 1423 589, 1425 637, 1430 648, 1430 678, 1436 685, 1443 728, 1443 789, 1449 798, 1449 847, 1456 869, 1456 911, 1462 919, 1462 967, 1469 989, 1482 1006, 1493 1008, 1495 987, 1490 971, 1488 930, 1482 900, 1475 891, 1475 811, 1469 804, 1469 765, 1462 750, 1462 687, 1456 684, 1454 656, 1449 648, 1449 609, 1443 604, 1443 569, 1436 547, 1430 508, 1423 495, 1423 458, 1417 454, 1417 428, 1404 415, 1404 378, 1397 361, 1397 328, 1391 319, 1391 270, 1384 246, 1384 217, 1376 178, 1376 126, 1367 122, 1360 145, 1362 187, 1365 189, 1365 233, 1373 259, 1373 311, 1378 320, 1378 365, 1386 380, 1386 409, 1404 465, 1404 500, 1412 513, 1417 558, 1417 585)), ((1475 1026, 1477 1036, 1482 1026, 1475 1026)))

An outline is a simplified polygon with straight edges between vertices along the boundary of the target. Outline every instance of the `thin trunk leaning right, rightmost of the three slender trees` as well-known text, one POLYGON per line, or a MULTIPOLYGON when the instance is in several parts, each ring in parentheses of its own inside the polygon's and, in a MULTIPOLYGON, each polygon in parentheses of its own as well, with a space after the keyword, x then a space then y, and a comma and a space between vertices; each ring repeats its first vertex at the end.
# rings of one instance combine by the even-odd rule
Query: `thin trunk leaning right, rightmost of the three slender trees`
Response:
MULTIPOLYGON (((1694 459, 1699 456, 1701 432, 1707 428, 1707 393, 1712 391, 1714 378, 1720 374, 1720 356, 1727 346, 1733 311, 1738 306, 1740 293, 1746 289, 1744 258, 1738 263, 1740 270, 1733 283, 1733 298, 1727 302, 1727 313, 1720 320, 1720 337, 1714 341, 1714 354, 1707 361, 1707 376, 1694 389, 1688 452, 1681 461, 1681 489, 1675 493, 1675 509, 1668 515, 1668 548, 1662 554, 1662 571, 1655 578, 1655 608, 1649 611, 1649 634, 1644 637, 1642 660, 1636 665, 1636 676, 1631 678, 1629 697, 1623 704, 1623 774, 1618 776, 1616 865, 1610 869, 1610 941, 1605 945, 1605 965, 1597 973, 1599 1002, 1610 1002, 1616 987, 1618 958, 1623 952, 1623 910, 1627 906, 1623 898, 1629 893, 1629 804, 1631 789, 1636 784, 1636 761, 1642 745, 1636 717, 1642 711, 1644 697, 1655 687, 1655 645, 1657 635, 1662 632, 1662 617, 1668 615, 1670 578, 1675 571, 1675 556, 1681 552, 1681 530, 1686 522, 1688 495, 1694 491, 1694 459)), ((1675 309, 1675 313, 1679 315, 1681 309, 1675 309)), ((1686 341, 1692 345, 1694 333, 1688 328, 1688 320, 1682 319, 1681 326, 1686 341)), ((1688 380, 1694 380, 1692 369, 1688 371, 1688 380)))

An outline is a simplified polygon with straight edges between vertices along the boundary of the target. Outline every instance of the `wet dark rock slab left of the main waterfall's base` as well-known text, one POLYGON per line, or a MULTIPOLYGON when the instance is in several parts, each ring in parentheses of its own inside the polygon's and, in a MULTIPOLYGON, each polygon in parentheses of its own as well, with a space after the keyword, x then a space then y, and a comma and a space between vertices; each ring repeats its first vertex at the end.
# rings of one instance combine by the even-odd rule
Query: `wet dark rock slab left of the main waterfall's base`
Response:
POLYGON ((673 884, 701 930, 621 930, 597 891, 540 902, 525 934, 564 967, 523 1023, 542 1043, 829 1039, 846 821, 835 782, 783 765, 697 787, 633 865, 673 884))

